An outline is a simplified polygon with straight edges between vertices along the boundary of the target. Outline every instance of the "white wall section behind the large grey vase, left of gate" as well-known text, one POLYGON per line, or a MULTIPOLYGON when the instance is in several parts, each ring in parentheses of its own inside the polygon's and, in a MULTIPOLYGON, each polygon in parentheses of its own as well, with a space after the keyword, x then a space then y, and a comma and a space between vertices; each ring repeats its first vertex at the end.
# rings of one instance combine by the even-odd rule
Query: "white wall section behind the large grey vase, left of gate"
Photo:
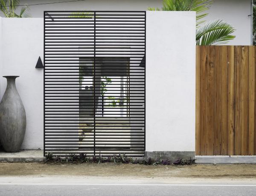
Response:
POLYGON ((22 149, 43 149, 43 69, 35 69, 39 55, 43 60, 43 24, 41 18, 2 18, 0 99, 6 89, 2 76, 19 75, 16 86, 26 110, 22 149))

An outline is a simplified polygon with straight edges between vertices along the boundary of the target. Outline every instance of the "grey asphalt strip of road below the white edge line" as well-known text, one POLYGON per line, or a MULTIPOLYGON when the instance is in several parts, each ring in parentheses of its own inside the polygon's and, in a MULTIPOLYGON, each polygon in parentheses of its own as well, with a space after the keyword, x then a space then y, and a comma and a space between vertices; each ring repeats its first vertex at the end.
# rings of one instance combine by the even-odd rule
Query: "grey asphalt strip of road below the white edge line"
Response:
POLYGON ((255 195, 256 186, 247 185, 84 185, 84 184, 8 184, 0 185, 2 196, 250 196, 255 195))

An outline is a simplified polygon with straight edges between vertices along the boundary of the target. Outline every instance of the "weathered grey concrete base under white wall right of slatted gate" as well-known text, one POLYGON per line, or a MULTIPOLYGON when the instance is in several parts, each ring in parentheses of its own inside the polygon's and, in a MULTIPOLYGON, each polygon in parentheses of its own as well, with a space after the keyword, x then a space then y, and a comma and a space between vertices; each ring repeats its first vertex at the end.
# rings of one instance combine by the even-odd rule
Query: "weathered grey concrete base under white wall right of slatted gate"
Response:
POLYGON ((194 151, 145 151, 145 159, 151 157, 152 159, 169 159, 174 162, 177 159, 195 159, 194 151))

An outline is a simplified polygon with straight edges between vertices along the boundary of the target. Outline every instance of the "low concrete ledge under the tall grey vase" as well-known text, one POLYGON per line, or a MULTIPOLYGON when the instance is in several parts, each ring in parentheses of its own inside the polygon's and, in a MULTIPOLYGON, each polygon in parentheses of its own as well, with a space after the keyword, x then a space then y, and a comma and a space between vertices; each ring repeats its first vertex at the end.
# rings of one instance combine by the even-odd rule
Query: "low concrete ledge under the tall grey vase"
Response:
POLYGON ((43 150, 20 150, 18 153, 0 152, 0 162, 41 162, 44 160, 43 150))

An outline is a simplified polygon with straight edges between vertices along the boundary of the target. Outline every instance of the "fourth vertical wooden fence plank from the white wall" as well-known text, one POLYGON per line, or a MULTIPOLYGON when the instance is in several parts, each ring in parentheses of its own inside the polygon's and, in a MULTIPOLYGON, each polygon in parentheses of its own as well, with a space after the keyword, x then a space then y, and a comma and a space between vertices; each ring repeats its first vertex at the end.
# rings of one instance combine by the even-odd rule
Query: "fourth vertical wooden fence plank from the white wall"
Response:
POLYGON ((214 141, 213 154, 221 153, 221 46, 214 46, 214 141))

